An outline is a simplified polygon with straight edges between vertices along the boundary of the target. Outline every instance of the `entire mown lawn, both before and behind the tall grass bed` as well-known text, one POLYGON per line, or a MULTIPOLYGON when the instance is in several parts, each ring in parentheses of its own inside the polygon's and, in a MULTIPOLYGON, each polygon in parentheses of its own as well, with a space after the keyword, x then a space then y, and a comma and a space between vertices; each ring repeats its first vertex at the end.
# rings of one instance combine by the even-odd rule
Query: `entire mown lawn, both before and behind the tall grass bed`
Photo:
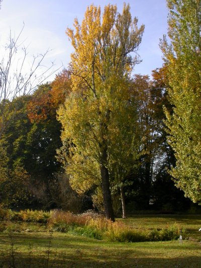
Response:
MULTIPOLYGON (((121 220, 121 219, 118 219, 121 220)), ((0 232, 0 267, 200 267, 201 216, 137 215, 124 220, 137 228, 165 228, 177 222, 193 239, 120 243, 49 232, 46 225, 10 223, 0 232), (13 249, 11 241, 13 240, 13 249), (48 257, 49 255, 49 257, 48 257), (14 265, 13 265, 14 264, 14 265)), ((7 223, 5 223, 7 224, 7 223)))

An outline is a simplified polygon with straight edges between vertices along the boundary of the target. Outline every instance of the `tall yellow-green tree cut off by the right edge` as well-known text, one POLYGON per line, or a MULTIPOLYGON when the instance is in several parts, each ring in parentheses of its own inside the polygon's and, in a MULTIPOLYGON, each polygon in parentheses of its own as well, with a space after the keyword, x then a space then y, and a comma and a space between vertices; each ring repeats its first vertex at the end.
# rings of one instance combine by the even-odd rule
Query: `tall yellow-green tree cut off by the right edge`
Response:
POLYGON ((167 66, 168 96, 173 112, 166 110, 169 144, 176 166, 170 174, 176 186, 193 202, 201 201, 201 57, 200 0, 167 0, 168 36, 161 42, 167 66))

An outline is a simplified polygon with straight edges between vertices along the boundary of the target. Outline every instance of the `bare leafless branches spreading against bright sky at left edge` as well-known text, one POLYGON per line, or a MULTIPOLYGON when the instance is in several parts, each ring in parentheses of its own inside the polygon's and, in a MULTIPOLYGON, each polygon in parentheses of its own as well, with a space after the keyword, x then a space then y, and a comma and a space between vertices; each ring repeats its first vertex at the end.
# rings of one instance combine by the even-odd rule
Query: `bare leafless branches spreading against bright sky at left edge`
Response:
POLYGON ((23 30, 24 25, 17 37, 13 37, 10 31, 0 61, 0 138, 15 114, 14 99, 31 94, 38 85, 62 67, 55 69, 54 62, 50 66, 43 64, 51 51, 49 49, 44 54, 33 55, 30 63, 27 47, 23 45, 24 41, 20 42, 23 30))

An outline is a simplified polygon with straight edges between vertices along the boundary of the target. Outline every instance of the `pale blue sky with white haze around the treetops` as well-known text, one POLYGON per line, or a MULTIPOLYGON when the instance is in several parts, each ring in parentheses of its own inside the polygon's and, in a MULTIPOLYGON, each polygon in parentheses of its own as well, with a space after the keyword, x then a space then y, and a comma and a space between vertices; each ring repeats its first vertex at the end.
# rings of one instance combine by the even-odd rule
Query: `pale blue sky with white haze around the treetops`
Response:
MULTIPOLYGON (((162 66, 159 39, 167 33, 165 0, 3 0, 0 10, 0 47, 7 43, 10 31, 12 36, 18 36, 24 25, 21 42, 28 47, 30 60, 32 55, 51 50, 44 65, 50 66, 54 62, 55 69, 62 65, 67 68, 73 49, 65 31, 67 27, 73 28, 74 18, 81 23, 87 6, 91 4, 100 6, 102 10, 105 5, 117 4, 121 13, 124 2, 130 4, 131 15, 138 18, 138 25, 145 25, 138 51, 142 63, 135 66, 134 73, 151 75, 152 70, 162 66)), ((53 78, 51 76, 49 80, 53 78)))

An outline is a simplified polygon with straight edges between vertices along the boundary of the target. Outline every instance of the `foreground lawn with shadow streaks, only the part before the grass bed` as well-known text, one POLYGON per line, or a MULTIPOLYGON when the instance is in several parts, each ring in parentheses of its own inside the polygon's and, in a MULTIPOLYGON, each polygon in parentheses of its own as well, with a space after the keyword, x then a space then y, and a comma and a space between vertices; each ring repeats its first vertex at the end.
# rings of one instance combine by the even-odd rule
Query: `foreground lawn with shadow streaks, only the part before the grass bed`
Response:
POLYGON ((200 267, 200 246, 177 242, 113 243, 80 236, 14 234, 0 245, 0 267, 200 267), (30 246, 29 246, 30 245, 30 246), (13 255, 12 255, 13 253, 13 255))

